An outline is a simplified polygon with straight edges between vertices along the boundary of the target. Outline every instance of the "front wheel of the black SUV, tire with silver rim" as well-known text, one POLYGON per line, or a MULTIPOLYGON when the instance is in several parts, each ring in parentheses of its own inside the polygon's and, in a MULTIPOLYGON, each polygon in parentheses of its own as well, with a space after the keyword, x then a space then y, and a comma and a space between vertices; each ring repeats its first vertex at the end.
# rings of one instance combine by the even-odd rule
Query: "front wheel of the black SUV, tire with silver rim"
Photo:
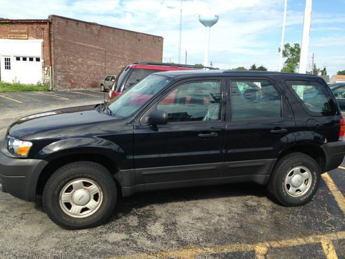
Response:
MULTIPOLYGON (((101 164, 88 161, 72 162, 62 166, 52 174, 43 191, 44 210, 53 222, 64 229, 86 229, 98 226, 110 216, 115 208, 116 200, 117 187, 112 175, 101 164), (81 183, 79 200, 76 198, 78 197, 76 196, 78 189, 72 185, 76 183, 81 183), (90 187, 96 191, 88 193, 86 190, 90 187), (72 191, 68 188, 72 188, 72 191), (59 198, 62 197, 62 194, 70 195, 72 202, 60 202, 59 198), (84 198, 85 196, 87 198, 84 198), (80 200, 82 202, 83 200, 87 201, 88 198, 87 204, 74 203, 80 202, 80 200), (91 201, 98 204, 96 208, 83 207, 88 206, 91 201), (75 215, 68 215, 68 208, 72 209, 72 206, 83 207, 78 211, 84 210, 82 212, 84 215, 79 212, 75 215)), ((70 211, 70 213, 72 212, 70 211)))

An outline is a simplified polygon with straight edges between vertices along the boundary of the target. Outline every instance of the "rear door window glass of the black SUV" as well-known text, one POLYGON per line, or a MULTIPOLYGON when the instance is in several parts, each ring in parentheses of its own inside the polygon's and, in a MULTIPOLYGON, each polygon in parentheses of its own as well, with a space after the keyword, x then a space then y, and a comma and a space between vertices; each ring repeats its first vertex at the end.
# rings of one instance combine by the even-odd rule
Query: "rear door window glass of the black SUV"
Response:
POLYGON ((231 81, 231 119, 282 117, 282 98, 269 81, 231 81))

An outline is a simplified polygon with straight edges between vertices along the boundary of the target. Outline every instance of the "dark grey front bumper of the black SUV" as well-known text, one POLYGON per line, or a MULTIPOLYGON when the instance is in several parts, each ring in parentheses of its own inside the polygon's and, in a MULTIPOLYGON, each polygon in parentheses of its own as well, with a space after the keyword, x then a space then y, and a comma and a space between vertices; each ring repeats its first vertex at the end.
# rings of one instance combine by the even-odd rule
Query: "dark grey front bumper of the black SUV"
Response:
POLYGON ((33 202, 39 175, 48 162, 45 160, 21 159, 0 151, 0 182, 3 191, 33 202))

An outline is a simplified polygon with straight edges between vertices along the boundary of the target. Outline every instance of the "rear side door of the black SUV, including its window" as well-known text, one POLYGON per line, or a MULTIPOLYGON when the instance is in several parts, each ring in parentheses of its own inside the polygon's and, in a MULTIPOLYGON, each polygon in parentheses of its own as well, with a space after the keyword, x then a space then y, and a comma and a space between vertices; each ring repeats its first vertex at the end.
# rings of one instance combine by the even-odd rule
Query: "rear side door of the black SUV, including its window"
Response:
POLYGON ((260 182, 278 153, 295 142, 295 120, 273 81, 232 78, 227 84, 231 98, 222 176, 242 175, 260 182))

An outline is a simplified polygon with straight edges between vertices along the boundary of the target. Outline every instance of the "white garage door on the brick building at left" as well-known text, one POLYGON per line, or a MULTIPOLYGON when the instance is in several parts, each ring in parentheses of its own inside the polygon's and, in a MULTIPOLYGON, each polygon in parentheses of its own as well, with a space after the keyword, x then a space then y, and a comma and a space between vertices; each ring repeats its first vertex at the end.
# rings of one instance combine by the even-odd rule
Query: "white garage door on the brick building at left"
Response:
POLYGON ((42 80, 41 40, 0 39, 1 81, 37 84, 42 80))

